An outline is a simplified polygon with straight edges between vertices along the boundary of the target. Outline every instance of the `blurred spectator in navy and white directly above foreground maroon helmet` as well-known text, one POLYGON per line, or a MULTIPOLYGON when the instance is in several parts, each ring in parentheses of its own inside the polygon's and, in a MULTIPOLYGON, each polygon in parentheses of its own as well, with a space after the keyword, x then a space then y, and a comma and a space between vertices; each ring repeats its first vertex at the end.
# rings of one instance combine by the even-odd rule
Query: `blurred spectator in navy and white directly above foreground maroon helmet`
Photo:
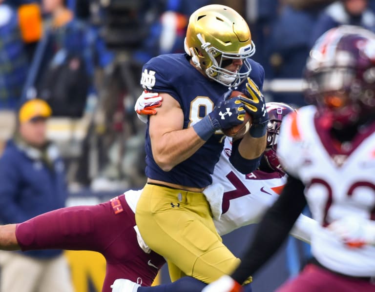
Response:
POLYGON ((310 46, 323 33, 343 24, 362 26, 375 32, 375 13, 368 8, 368 0, 339 0, 329 5, 315 22, 310 46))

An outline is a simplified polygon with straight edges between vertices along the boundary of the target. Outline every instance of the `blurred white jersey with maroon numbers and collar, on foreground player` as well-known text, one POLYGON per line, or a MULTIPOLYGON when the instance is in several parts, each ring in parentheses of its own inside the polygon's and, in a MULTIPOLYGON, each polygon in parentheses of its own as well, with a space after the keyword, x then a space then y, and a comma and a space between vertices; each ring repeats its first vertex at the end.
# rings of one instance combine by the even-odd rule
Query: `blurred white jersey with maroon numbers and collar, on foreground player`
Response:
POLYGON ((286 171, 305 185, 305 196, 319 227, 312 254, 325 267, 352 276, 375 275, 375 247, 349 248, 327 228, 346 216, 375 219, 375 125, 352 143, 335 145, 329 129, 306 106, 284 118, 277 154, 286 171))

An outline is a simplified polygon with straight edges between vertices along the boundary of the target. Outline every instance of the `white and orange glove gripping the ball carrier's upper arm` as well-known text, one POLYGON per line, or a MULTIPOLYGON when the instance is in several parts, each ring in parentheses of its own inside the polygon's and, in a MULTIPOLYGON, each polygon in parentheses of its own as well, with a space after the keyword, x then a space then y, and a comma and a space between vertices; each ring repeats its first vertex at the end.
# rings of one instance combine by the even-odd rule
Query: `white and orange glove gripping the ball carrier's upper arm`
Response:
POLYGON ((155 115, 155 108, 162 105, 163 97, 159 96, 157 92, 146 92, 144 90, 134 105, 134 110, 137 112, 138 118, 144 123, 147 122, 148 115, 155 115))

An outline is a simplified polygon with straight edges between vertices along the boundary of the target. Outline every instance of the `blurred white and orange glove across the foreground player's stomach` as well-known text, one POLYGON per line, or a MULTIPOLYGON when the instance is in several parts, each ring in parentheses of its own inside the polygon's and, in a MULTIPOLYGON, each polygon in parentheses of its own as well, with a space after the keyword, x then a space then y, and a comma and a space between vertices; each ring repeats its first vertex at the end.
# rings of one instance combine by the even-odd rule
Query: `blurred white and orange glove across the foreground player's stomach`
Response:
POLYGON ((366 244, 375 245, 374 221, 348 216, 334 221, 327 228, 349 247, 360 248, 366 244))

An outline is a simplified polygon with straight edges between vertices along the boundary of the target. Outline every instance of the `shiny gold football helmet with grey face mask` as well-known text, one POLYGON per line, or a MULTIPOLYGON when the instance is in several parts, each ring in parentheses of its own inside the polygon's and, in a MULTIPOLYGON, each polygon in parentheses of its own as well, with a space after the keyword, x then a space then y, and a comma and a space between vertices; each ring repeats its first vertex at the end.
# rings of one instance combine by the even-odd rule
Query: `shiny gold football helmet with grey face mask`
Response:
POLYGON ((207 5, 196 10, 189 19, 185 51, 197 68, 208 78, 230 87, 238 86, 251 71, 246 58, 255 53, 255 45, 245 19, 224 5, 207 5), (224 69, 233 59, 241 59, 246 70, 233 73, 224 69), (224 61, 224 62, 223 62, 224 61))

